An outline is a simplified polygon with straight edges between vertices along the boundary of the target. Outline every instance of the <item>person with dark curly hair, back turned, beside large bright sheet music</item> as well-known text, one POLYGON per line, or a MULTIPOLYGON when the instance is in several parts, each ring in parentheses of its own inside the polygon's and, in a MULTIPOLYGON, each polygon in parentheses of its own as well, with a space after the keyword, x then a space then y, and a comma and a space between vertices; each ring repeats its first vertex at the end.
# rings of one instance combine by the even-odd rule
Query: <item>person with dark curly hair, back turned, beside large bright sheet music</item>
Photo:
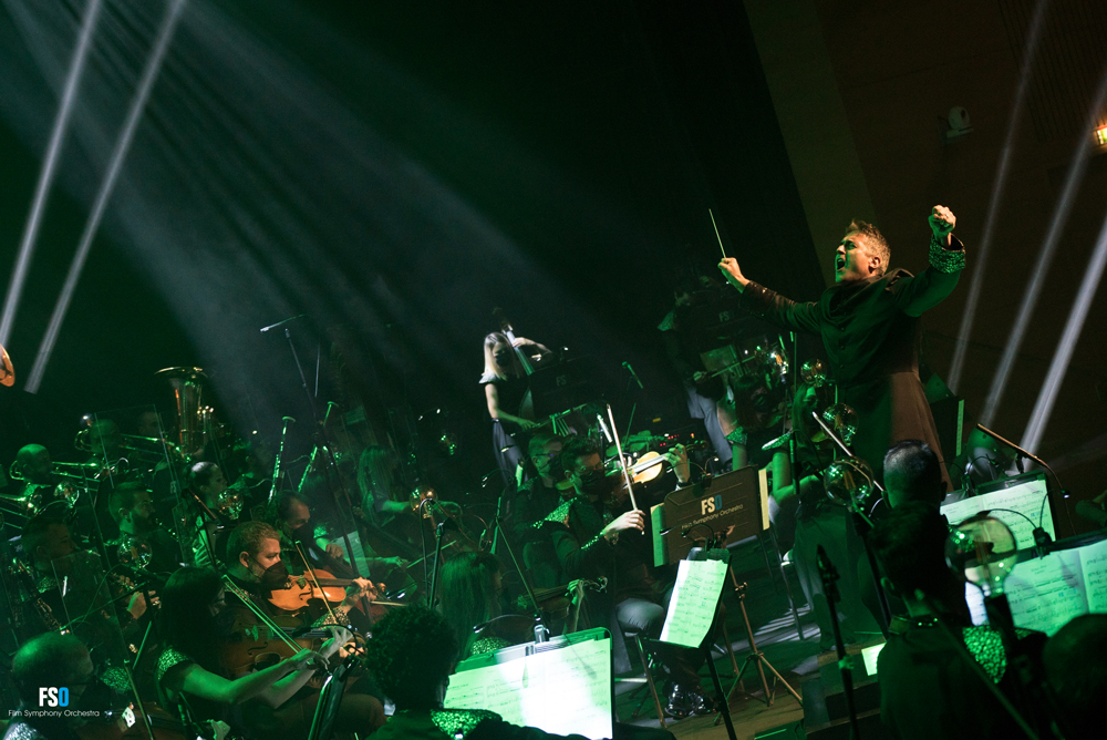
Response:
MULTIPOLYGON (((443 709, 457 638, 446 621, 424 606, 390 611, 376 623, 365 648, 370 670, 395 703, 392 719, 376 731, 390 740, 542 740, 560 738, 505 722, 482 709, 443 709), (417 649, 413 646, 433 646, 417 649)), ((582 736, 569 736, 584 740, 582 736)))

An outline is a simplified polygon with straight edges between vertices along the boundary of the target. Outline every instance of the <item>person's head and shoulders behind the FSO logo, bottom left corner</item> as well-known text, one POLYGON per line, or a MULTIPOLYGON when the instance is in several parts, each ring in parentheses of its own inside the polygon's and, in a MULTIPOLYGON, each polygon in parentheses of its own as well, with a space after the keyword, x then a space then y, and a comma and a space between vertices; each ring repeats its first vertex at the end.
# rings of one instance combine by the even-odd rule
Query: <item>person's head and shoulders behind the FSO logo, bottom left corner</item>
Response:
POLYGON ((89 721, 81 711, 99 709, 83 701, 96 684, 95 668, 89 649, 72 634, 46 633, 24 644, 12 660, 11 677, 19 709, 4 733, 10 740, 76 740, 89 721), (66 708, 71 711, 59 707, 58 716, 43 713, 52 708, 43 706, 42 689, 62 687, 69 690, 66 708))

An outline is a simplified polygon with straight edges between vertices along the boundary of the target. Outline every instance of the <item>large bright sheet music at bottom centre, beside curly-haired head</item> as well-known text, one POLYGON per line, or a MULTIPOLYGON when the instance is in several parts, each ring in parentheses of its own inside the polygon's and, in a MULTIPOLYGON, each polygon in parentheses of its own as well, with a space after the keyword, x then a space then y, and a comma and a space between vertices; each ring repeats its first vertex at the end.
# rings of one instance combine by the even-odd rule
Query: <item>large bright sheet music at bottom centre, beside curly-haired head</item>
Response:
POLYGON ((487 709, 554 734, 611 737, 611 640, 584 640, 449 677, 447 709, 487 709))

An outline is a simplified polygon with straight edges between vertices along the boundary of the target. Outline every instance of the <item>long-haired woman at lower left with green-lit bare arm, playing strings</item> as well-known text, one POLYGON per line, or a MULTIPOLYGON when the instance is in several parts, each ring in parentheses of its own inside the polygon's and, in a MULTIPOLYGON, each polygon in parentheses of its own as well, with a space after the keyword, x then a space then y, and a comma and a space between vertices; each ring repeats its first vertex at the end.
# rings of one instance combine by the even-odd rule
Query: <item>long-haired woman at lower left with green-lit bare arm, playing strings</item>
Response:
MULTIPOLYGON (((303 737, 310 727, 310 709, 290 701, 299 692, 312 693, 306 685, 327 659, 339 652, 349 637, 332 627, 331 638, 318 651, 301 649, 276 665, 232 678, 221 655, 224 615, 228 608, 223 580, 215 571, 186 566, 170 576, 162 595, 159 630, 165 649, 157 661, 158 699, 188 722, 221 720, 247 737, 303 737), (278 709, 279 708, 279 709, 278 709)), ((354 708, 366 709, 361 699, 354 708)), ((343 707, 345 709, 345 707, 343 707)), ((344 718, 349 722, 349 718, 344 718)), ((365 712, 360 731, 383 722, 365 712)), ((340 718, 340 721, 343 718, 340 718)))

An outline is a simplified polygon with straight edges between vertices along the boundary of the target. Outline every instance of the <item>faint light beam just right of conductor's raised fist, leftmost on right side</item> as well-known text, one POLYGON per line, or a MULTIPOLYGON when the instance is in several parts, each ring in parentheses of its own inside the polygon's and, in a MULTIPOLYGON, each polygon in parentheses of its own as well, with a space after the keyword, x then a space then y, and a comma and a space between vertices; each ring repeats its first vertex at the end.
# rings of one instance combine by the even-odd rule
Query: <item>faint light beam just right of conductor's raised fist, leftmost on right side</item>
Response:
POLYGON ((969 338, 972 335, 973 321, 976 319, 976 306, 980 304, 980 294, 984 287, 984 268, 987 267, 987 255, 992 246, 992 236, 995 234, 995 224, 999 220, 1000 202, 1003 199, 1003 192, 1007 184, 1011 154, 1015 148, 1018 119, 1022 113, 1023 100, 1026 97, 1026 89, 1030 86, 1031 62, 1034 61, 1034 52, 1037 50, 1038 39, 1042 35, 1042 19, 1045 17, 1045 10, 1048 4, 1049 0, 1038 0, 1037 7, 1034 10, 1034 18, 1031 20, 1031 32, 1026 38, 1026 49, 1023 51, 1023 69, 1018 75, 1015 102, 1011 106, 1011 117, 1007 121, 1007 136, 1003 141, 1000 165, 995 171, 995 184, 992 186, 992 198, 987 204, 984 233, 980 240, 980 248, 973 254, 972 282, 969 285, 969 297, 965 299, 964 312, 961 315, 958 345, 953 351, 953 361, 950 363, 949 379, 946 381, 950 390, 954 393, 958 392, 958 386, 961 384, 961 373, 964 370, 965 354, 969 351, 969 338))

